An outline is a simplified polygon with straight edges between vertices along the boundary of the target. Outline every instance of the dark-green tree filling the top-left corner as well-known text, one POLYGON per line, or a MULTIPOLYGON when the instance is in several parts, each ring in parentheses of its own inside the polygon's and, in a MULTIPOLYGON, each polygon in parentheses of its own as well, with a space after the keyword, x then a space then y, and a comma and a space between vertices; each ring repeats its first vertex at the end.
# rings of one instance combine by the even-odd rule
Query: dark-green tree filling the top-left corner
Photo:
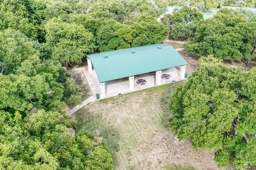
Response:
POLYGON ((37 39, 45 8, 44 2, 39 0, 3 0, 0 2, 0 29, 12 28, 37 39))

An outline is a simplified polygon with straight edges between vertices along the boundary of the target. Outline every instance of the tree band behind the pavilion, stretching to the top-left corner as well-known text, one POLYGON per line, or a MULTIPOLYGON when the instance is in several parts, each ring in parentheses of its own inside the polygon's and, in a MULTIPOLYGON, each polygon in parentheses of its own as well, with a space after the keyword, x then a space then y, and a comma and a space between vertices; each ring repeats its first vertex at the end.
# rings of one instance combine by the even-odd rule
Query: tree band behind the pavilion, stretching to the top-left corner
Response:
POLYGON ((162 11, 147 0, 3 0, 0 5, 0 30, 19 30, 45 43, 47 57, 66 66, 81 63, 86 54, 160 43, 167 36, 155 20, 162 11))

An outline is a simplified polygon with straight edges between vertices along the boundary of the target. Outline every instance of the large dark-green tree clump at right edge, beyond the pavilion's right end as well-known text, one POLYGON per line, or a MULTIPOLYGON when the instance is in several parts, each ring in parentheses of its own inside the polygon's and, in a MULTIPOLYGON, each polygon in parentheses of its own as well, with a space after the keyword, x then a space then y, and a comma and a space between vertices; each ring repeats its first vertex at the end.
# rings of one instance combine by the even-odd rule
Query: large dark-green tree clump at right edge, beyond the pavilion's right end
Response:
POLYGON ((190 53, 248 64, 256 56, 255 28, 256 17, 252 13, 222 9, 213 18, 199 21, 194 37, 185 47, 190 53))

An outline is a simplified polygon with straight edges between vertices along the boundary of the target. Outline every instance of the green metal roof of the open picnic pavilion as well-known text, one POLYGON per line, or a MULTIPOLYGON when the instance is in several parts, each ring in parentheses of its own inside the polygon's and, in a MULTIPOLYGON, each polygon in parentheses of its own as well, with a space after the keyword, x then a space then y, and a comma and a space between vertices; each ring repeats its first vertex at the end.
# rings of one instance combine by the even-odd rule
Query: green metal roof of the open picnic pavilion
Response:
POLYGON ((188 64, 172 46, 164 44, 96 53, 87 57, 92 61, 100 82, 188 64))

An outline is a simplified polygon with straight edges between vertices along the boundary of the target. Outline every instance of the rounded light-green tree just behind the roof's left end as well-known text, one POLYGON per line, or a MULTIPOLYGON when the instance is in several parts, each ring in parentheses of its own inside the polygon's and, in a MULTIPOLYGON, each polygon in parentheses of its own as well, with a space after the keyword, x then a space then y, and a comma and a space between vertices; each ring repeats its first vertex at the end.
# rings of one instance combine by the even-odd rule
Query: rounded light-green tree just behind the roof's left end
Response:
POLYGON ((66 64, 81 63, 95 49, 94 37, 82 25, 52 19, 45 25, 46 43, 53 47, 53 59, 66 64))

